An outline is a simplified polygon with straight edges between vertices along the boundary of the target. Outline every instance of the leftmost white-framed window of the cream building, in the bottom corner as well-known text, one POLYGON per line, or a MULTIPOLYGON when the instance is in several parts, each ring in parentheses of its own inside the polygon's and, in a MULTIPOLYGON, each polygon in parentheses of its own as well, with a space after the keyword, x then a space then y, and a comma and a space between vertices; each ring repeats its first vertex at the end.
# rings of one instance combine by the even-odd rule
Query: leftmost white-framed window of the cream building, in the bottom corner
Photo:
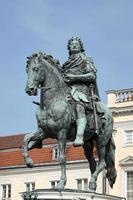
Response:
POLYGON ((11 185, 2 185, 2 200, 11 200, 11 185))

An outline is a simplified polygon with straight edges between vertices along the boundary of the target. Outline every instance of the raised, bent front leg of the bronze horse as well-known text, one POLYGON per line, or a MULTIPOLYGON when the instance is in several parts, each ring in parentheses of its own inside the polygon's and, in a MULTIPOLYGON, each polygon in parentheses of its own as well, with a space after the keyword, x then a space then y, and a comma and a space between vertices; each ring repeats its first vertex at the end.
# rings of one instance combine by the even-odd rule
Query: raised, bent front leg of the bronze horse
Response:
POLYGON ((39 143, 41 143, 44 138, 45 134, 40 128, 35 133, 28 133, 25 135, 22 152, 28 167, 32 168, 34 166, 33 161, 29 156, 28 150, 31 150, 37 146, 37 144, 39 145, 39 143))

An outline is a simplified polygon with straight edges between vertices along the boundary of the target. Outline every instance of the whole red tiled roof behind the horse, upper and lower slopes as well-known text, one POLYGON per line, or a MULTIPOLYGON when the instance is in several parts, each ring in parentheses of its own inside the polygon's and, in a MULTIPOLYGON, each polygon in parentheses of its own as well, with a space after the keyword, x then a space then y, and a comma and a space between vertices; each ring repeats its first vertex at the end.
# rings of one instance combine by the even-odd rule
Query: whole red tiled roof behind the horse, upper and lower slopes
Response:
MULTIPOLYGON (((10 166, 21 166, 25 165, 21 147, 23 143, 24 135, 13 135, 0 137, 0 149, 8 151, 0 151, 0 168, 1 167, 10 167, 10 166), (12 148, 19 148, 11 151, 12 148)), ((55 144, 56 140, 46 139, 44 144, 55 144)), ((94 150, 94 155, 96 151, 94 150)), ((35 164, 45 164, 45 163, 53 163, 55 161, 52 160, 52 147, 45 146, 42 149, 33 149, 29 152, 30 157, 33 159, 35 164)), ((68 146, 66 148, 66 160, 74 161, 74 160, 84 160, 84 152, 82 147, 68 146)))

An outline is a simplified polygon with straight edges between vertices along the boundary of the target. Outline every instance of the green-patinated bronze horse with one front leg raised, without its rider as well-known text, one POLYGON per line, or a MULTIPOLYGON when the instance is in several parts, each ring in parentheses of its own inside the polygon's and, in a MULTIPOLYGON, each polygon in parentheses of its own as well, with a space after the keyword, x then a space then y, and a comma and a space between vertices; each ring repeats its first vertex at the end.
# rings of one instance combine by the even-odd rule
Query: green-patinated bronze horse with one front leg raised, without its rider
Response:
MULTIPOLYGON (((45 138, 56 138, 59 143, 59 163, 61 166, 60 181, 56 188, 64 189, 66 185, 66 141, 74 141, 76 134, 75 102, 70 98, 70 88, 65 83, 61 67, 57 60, 42 52, 35 53, 27 60, 27 84, 26 93, 37 95, 40 88, 40 102, 36 103, 38 109, 36 118, 38 129, 35 133, 25 135, 23 156, 28 167, 33 167, 33 161, 29 157, 28 150, 38 147, 45 138)), ((84 153, 89 162, 91 180, 89 189, 96 190, 98 174, 106 169, 106 177, 113 187, 116 179, 115 169, 115 145, 112 137, 113 119, 106 105, 97 102, 104 112, 105 120, 101 123, 99 116, 99 135, 94 129, 86 127, 84 134, 84 153), (97 146, 99 162, 93 157, 94 144, 97 146)), ((92 111, 90 111, 92 112, 92 111)), ((93 112, 92 114, 93 115, 93 112)), ((88 121, 90 113, 88 114, 88 121)))

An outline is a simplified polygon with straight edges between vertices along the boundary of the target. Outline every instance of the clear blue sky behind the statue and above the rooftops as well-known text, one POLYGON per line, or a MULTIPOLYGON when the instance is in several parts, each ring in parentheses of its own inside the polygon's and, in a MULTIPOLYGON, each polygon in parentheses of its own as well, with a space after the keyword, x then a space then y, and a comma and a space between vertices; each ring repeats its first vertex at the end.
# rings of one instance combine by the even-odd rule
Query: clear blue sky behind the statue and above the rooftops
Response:
POLYGON ((63 64, 67 42, 82 39, 106 91, 133 87, 132 0, 0 1, 0 136, 36 130, 36 105, 25 93, 26 60, 43 51, 63 64))

